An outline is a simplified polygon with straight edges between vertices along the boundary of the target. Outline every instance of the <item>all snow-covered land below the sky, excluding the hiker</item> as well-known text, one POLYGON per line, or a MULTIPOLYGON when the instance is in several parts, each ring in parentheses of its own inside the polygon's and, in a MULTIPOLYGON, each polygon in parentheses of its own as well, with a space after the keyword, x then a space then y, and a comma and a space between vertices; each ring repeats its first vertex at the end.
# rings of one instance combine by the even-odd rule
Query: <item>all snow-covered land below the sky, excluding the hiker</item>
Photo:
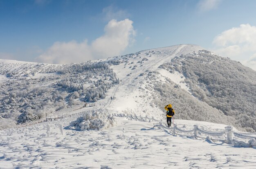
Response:
POLYGON ((255 77, 191 44, 67 65, 0 60, 0 168, 252 169, 255 77))

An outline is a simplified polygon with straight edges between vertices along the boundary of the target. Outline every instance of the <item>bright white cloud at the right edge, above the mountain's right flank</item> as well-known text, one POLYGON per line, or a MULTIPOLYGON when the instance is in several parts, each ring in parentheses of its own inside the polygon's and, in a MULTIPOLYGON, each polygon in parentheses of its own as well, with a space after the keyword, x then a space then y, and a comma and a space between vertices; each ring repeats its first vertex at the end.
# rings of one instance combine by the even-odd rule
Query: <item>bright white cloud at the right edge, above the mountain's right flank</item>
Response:
POLYGON ((214 51, 222 56, 241 61, 251 68, 256 67, 256 26, 250 24, 241 24, 239 27, 228 29, 217 35, 213 44, 214 51), (250 59, 249 57, 252 56, 250 59), (254 65, 254 66, 253 66, 254 65))

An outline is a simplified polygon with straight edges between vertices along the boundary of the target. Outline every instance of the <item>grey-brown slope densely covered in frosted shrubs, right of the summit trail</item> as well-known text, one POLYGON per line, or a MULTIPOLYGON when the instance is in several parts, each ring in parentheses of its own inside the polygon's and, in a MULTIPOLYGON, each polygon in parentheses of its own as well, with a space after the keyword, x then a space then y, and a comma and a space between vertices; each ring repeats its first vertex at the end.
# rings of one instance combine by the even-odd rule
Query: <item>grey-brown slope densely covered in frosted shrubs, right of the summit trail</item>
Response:
POLYGON ((256 72, 207 50, 175 57, 163 66, 184 75, 194 97, 236 118, 249 132, 256 130, 256 72))

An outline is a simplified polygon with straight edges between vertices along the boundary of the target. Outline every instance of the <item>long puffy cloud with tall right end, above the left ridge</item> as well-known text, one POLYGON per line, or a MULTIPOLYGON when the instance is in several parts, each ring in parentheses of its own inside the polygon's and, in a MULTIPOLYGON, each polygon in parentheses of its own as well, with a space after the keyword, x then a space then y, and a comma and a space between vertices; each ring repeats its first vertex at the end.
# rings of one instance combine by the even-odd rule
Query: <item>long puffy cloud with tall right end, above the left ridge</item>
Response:
POLYGON ((120 55, 134 40, 135 31, 129 19, 110 20, 104 28, 105 34, 88 44, 84 42, 55 42, 36 61, 52 64, 67 64, 103 59, 120 55))

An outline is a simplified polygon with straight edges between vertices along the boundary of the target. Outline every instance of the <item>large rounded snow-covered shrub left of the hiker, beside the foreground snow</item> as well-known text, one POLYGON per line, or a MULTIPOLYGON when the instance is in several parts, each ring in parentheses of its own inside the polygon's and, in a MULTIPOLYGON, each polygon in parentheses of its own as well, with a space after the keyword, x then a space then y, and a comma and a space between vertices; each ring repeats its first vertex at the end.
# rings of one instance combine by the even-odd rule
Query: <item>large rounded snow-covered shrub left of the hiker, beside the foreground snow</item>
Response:
POLYGON ((70 129, 106 129, 117 125, 117 119, 105 111, 86 113, 70 123, 70 129))

